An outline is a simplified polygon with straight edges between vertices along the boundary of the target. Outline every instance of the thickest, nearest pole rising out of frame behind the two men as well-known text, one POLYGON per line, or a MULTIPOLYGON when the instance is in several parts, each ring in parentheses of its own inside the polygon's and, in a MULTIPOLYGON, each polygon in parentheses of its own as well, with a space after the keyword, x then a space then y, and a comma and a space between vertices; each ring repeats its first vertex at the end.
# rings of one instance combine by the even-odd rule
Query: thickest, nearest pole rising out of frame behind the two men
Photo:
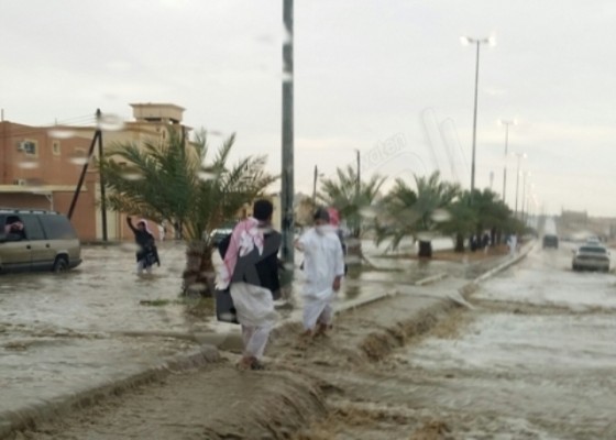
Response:
POLYGON ((294 265, 293 0, 283 0, 283 22, 286 34, 283 42, 282 258, 287 265, 294 265))

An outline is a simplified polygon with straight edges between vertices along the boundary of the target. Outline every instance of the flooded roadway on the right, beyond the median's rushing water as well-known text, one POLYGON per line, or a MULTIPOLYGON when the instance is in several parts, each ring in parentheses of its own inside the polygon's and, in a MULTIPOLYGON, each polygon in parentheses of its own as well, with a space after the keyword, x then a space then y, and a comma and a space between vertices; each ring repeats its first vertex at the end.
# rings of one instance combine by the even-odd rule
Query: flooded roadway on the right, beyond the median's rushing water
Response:
POLYGON ((569 248, 536 249, 378 365, 329 372, 331 438, 616 438, 616 278, 572 272, 569 248))

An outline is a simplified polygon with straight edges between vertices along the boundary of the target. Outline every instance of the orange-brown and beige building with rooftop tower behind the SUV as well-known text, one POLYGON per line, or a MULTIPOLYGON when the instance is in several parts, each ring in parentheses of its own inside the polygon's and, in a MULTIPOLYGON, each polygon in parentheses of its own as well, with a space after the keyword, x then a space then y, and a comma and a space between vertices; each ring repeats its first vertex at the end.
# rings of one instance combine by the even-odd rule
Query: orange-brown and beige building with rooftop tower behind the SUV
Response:
MULTIPOLYGON (((134 121, 122 122, 101 116, 103 151, 116 143, 161 139, 169 128, 189 129, 182 124, 184 110, 172 103, 133 103, 134 121)), ((80 174, 89 164, 75 205, 72 222, 82 241, 103 237, 100 209, 99 174, 88 162, 97 125, 30 127, 0 121, 0 207, 52 209, 68 213, 80 174)), ((98 146, 94 156, 98 157, 98 146)), ((108 239, 132 238, 124 217, 107 212, 108 239)))

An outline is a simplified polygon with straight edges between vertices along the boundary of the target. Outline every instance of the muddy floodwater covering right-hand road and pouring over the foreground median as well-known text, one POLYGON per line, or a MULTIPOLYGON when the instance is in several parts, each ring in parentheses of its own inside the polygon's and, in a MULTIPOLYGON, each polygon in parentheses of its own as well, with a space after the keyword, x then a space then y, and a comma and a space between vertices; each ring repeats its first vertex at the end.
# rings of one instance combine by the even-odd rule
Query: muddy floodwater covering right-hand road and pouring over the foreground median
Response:
POLYGON ((447 299, 464 278, 408 286, 339 316, 330 338, 277 334, 265 372, 238 373, 227 353, 24 438, 614 439, 616 279, 570 258, 535 249, 472 307, 447 299))

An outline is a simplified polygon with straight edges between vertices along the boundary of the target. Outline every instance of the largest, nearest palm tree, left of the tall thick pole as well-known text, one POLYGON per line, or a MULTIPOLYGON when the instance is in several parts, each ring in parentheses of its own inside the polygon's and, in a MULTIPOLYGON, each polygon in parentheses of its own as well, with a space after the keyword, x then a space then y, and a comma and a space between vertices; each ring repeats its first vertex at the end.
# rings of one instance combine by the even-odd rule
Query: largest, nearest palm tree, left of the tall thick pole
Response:
POLYGON ((204 130, 193 142, 175 130, 168 134, 163 142, 116 144, 107 152, 99 167, 109 188, 108 206, 178 224, 187 243, 183 293, 208 295, 215 279, 208 232, 237 218, 276 177, 265 172, 265 156, 229 166, 234 134, 215 152, 204 130))

